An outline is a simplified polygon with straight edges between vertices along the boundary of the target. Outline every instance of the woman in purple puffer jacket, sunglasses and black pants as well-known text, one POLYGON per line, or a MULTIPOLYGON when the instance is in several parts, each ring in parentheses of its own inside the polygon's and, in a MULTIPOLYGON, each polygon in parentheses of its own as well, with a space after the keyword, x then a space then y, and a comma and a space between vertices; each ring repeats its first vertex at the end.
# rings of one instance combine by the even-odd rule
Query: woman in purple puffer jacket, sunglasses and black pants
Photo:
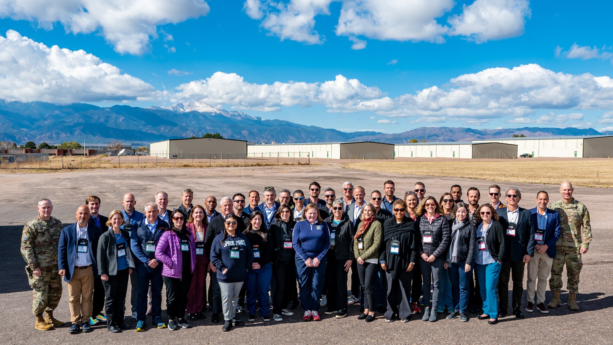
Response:
POLYGON ((162 262, 162 279, 166 284, 166 311, 169 330, 191 327, 185 320, 188 292, 196 267, 194 235, 185 227, 185 213, 176 209, 170 214, 173 227, 159 238, 155 258, 162 262))

